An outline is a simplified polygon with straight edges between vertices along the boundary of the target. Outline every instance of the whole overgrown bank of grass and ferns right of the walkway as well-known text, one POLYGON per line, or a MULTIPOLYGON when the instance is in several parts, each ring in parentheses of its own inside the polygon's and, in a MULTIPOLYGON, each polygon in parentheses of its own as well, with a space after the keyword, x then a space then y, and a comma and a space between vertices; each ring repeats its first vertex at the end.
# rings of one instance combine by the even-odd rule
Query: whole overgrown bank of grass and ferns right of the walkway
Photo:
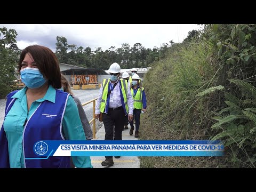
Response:
POLYGON ((140 157, 141 167, 255 167, 255 29, 205 25, 144 78, 141 140, 223 139, 225 157, 140 157))

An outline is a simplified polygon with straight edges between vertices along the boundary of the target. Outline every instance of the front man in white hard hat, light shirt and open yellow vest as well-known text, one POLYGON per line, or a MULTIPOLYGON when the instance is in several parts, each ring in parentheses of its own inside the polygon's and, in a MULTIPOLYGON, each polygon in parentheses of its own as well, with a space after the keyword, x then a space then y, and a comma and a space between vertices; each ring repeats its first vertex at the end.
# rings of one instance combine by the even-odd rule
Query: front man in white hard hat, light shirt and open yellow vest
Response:
MULTIPOLYGON (((95 118, 99 119, 100 113, 103 113, 105 140, 122 140, 125 116, 128 114, 129 121, 133 119, 133 99, 127 81, 118 78, 121 71, 118 63, 110 65, 108 71, 110 78, 103 79, 100 86, 95 105, 95 118)), ((113 156, 106 156, 101 165, 114 165, 113 156)))

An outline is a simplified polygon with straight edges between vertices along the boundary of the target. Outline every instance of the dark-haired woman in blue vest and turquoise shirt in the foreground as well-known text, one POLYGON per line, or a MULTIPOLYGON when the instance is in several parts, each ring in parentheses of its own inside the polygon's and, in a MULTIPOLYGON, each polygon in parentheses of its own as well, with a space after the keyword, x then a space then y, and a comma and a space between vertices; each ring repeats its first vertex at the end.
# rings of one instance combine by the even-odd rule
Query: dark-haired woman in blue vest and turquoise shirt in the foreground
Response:
MULTIPOLYGON (((85 140, 74 99, 58 90, 61 75, 57 57, 45 46, 31 45, 21 52, 18 65, 26 86, 7 95, 0 131, 0 167, 70 167, 68 156, 38 159, 34 151, 44 151, 43 142, 35 145, 42 140, 85 140)), ((90 157, 72 158, 76 167, 92 167, 90 157)))

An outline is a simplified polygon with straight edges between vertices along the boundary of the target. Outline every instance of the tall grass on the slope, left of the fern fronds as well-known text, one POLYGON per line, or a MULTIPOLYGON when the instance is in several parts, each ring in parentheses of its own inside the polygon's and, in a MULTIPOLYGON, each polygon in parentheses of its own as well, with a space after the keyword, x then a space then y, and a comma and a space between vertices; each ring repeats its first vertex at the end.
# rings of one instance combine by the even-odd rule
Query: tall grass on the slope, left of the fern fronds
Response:
MULTIPOLYGON (((206 43, 175 44, 145 76, 148 110, 141 116, 141 140, 207 140, 212 100, 197 97, 215 83, 217 64, 206 43)), ((228 167, 226 157, 140 157, 141 167, 228 167)))

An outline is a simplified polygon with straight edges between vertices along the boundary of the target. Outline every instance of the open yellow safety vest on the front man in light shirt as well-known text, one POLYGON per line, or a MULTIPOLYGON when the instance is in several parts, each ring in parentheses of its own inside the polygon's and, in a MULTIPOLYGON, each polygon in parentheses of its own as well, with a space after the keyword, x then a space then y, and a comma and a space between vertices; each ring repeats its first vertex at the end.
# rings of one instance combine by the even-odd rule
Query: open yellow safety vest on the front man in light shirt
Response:
MULTIPOLYGON (((119 80, 118 80, 119 81, 119 80)), ((128 105, 127 105, 127 97, 126 97, 126 91, 127 91, 127 81, 125 81, 124 79, 120 79, 121 82, 121 89, 122 89, 122 95, 124 98, 124 105, 125 105, 125 115, 129 112, 128 109, 128 105)), ((102 99, 101 99, 101 104, 100 104, 100 112, 104 113, 105 112, 105 108, 106 108, 106 104, 107 104, 107 96, 108 96, 108 85, 110 83, 110 79, 103 79, 102 82, 102 99)), ((124 106, 123 106, 124 108, 124 106)))

